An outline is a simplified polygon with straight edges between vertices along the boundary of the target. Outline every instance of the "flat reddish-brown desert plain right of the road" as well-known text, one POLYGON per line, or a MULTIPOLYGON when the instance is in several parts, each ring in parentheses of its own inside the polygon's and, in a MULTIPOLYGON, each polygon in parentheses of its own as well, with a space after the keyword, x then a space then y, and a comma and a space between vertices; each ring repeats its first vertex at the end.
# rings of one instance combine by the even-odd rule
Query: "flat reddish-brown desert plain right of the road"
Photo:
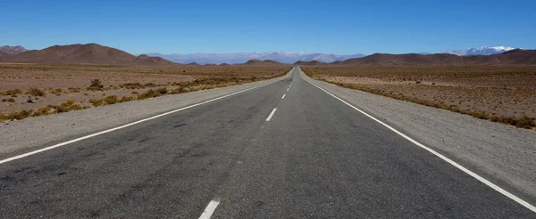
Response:
POLYGON ((308 67, 309 77, 534 129, 535 66, 308 67))

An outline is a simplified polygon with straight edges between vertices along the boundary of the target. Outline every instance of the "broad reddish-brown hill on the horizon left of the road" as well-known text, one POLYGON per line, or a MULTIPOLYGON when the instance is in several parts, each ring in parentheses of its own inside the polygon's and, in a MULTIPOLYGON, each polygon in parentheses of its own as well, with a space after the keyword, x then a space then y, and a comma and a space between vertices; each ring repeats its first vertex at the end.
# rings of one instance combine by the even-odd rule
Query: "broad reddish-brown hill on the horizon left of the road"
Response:
POLYGON ((139 56, 111 47, 87 45, 54 45, 43 50, 0 57, 0 61, 61 64, 103 64, 103 65, 172 65, 171 61, 160 58, 139 56))

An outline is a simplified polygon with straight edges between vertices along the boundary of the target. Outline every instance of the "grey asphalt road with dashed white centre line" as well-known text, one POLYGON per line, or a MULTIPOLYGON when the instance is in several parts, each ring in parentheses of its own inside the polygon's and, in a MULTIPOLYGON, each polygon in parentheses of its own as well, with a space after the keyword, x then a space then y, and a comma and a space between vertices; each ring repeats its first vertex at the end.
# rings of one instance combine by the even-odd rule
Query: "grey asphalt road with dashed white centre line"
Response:
POLYGON ((270 85, 0 164, 2 218, 201 215, 536 216, 297 69, 270 85))

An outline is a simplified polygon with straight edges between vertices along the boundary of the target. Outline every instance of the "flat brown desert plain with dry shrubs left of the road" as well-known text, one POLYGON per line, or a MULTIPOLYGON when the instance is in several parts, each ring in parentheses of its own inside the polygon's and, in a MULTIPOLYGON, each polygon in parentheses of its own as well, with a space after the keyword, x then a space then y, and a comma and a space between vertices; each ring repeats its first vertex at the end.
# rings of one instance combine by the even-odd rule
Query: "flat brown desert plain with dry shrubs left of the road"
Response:
POLYGON ((278 77, 286 66, 0 64, 0 121, 278 77))

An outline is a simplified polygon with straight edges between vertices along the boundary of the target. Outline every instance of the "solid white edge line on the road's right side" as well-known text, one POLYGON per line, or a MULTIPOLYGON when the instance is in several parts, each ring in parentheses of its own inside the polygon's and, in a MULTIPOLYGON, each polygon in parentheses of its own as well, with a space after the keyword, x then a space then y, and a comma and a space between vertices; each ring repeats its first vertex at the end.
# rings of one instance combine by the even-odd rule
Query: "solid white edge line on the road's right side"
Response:
MULTIPOLYGON (((311 85, 314 85, 312 82, 310 82, 309 80, 306 80, 307 82, 309 82, 309 84, 311 85)), ((536 207, 532 206, 530 203, 528 203, 527 201, 523 200, 523 199, 520 199, 518 198, 517 196, 515 196, 514 194, 498 187, 498 185, 494 184, 494 183, 491 183, 489 180, 486 180, 484 177, 480 176, 479 174, 475 174, 473 173, 473 171, 465 168, 464 166, 461 166, 459 165, 458 163, 456 163, 454 160, 450 159, 450 158, 447 158, 445 156, 443 156, 442 154, 440 154, 439 152, 435 151, 435 150, 432 150, 431 148, 428 148, 426 146, 424 146, 422 143, 420 142, 417 142, 415 141, 414 139, 410 138, 409 136, 407 136, 406 134, 402 134, 401 132, 399 132, 397 129, 381 122, 381 120, 377 119, 377 118, 373 118, 373 116, 369 115, 368 113, 364 112, 363 110, 359 110, 357 109, 355 106, 353 106, 352 104, 348 103, 347 101, 343 101, 342 99, 340 99, 339 97, 335 96, 334 94, 324 90, 322 87, 318 86, 318 85, 314 85, 316 86, 318 89, 322 90, 323 92, 325 93, 328 93, 330 94, 332 97, 334 97, 335 99, 339 100, 339 101, 342 101, 344 102, 345 104, 347 104, 349 107, 353 108, 354 110, 357 110, 359 111, 360 113, 363 113, 364 116, 367 116, 368 118, 372 118, 374 121, 378 122, 379 124, 381 124, 382 126, 386 126, 387 128, 389 128, 391 131, 393 131, 394 133, 404 137, 407 141, 409 142, 412 142, 414 143, 415 145, 423 148, 424 150, 428 150, 429 152, 431 152, 433 155, 447 161, 447 163, 451 164, 452 166, 456 166, 456 168, 462 170, 465 172, 465 174, 469 174, 471 176, 473 176, 473 178, 477 179, 478 181, 488 185, 491 187, 491 189, 495 190, 495 191, 498 191, 499 193, 503 194, 504 196, 506 196, 507 198, 510 198, 510 199, 513 199, 515 202, 517 202, 518 204, 522 205, 523 207, 526 207, 526 208, 529 208, 529 210, 531 210, 532 212, 536 212, 536 207)))

